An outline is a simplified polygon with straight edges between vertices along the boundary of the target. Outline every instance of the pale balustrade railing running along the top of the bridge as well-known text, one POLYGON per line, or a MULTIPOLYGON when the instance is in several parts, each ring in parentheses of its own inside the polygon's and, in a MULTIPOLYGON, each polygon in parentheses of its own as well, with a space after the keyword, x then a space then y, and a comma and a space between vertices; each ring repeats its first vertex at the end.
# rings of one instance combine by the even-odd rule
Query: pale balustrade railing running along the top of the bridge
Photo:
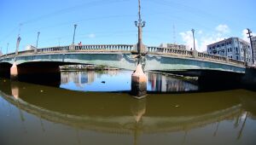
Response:
MULTIPOLYGON (((145 46, 148 54, 160 54, 160 55, 175 55, 180 57, 189 57, 195 58, 198 60, 204 61, 218 61, 229 64, 234 64, 238 66, 245 66, 243 61, 236 61, 229 59, 225 56, 220 55, 209 55, 206 53, 201 53, 197 51, 187 50, 187 49, 172 49, 172 48, 163 48, 163 47, 151 47, 145 46)), ((137 46, 131 44, 100 44, 100 45, 67 45, 67 46, 55 46, 43 49, 32 49, 19 51, 19 55, 32 55, 32 54, 44 54, 44 53, 61 53, 61 52, 83 52, 83 51, 105 51, 105 52, 132 52, 136 51, 137 46)), ((8 55, 2 55, 0 58, 10 58, 15 57, 15 53, 8 55)))

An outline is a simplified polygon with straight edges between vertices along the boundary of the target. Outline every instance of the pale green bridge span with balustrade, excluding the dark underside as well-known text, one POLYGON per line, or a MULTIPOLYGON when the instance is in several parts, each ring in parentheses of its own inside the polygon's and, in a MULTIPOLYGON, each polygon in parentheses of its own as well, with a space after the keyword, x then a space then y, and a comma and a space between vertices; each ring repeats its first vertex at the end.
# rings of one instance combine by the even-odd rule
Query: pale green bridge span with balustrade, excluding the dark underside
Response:
MULTIPOLYGON (((135 70, 137 67, 137 46, 129 44, 115 45, 70 45, 43 49, 32 49, 2 55, 0 64, 29 64, 47 62, 65 65, 94 64, 109 67, 135 70)), ((161 47, 146 47, 146 55, 142 63, 144 71, 173 70, 216 70, 233 73, 245 73, 243 61, 231 60, 224 56, 209 55, 186 49, 170 49, 161 47)))

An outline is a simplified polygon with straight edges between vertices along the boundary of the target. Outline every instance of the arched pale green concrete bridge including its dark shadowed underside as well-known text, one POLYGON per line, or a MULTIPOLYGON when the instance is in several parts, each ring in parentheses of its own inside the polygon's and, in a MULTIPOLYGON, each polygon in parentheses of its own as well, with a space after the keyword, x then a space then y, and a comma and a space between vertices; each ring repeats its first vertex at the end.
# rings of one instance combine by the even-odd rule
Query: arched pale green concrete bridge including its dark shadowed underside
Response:
POLYGON ((234 75, 241 76, 246 73, 243 61, 232 60, 224 56, 186 49, 143 47, 146 52, 144 55, 138 54, 137 45, 131 44, 72 44, 43 49, 35 48, 2 55, 0 75, 11 76, 11 78, 33 78, 34 76, 34 78, 45 80, 47 78, 42 77, 43 74, 60 73, 62 65, 93 64, 135 70, 138 63, 142 64, 144 71, 172 73, 189 71, 195 75, 211 75, 213 80, 220 76, 219 73, 224 74, 222 78, 228 76, 230 79, 233 79, 234 75))

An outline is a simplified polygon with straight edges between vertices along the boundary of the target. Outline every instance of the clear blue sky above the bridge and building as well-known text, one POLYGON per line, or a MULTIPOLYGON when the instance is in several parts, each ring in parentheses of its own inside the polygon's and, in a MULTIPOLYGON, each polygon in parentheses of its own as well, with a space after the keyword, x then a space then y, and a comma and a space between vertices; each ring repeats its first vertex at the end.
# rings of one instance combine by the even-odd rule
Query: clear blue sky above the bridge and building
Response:
MULTIPOLYGON (((255 0, 141 0, 143 43, 186 44, 192 47, 195 29, 196 49, 207 44, 238 37, 246 38, 248 27, 256 32, 255 0), (244 31, 244 32, 243 32, 244 31)), ((0 48, 15 51, 20 26, 20 50, 75 43, 136 44, 137 0, 0 0, 0 48)))

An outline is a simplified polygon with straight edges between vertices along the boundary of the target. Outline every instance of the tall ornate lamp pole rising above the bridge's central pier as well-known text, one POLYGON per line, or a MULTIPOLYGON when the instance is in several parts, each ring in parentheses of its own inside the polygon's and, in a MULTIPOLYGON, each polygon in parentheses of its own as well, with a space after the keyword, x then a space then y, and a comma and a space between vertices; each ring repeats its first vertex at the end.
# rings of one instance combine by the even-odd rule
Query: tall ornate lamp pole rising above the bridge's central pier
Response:
POLYGON ((145 54, 145 49, 143 46, 143 27, 146 22, 142 20, 141 16, 141 1, 138 0, 138 21, 135 21, 135 26, 137 26, 138 40, 137 40, 137 52, 139 55, 145 54))

